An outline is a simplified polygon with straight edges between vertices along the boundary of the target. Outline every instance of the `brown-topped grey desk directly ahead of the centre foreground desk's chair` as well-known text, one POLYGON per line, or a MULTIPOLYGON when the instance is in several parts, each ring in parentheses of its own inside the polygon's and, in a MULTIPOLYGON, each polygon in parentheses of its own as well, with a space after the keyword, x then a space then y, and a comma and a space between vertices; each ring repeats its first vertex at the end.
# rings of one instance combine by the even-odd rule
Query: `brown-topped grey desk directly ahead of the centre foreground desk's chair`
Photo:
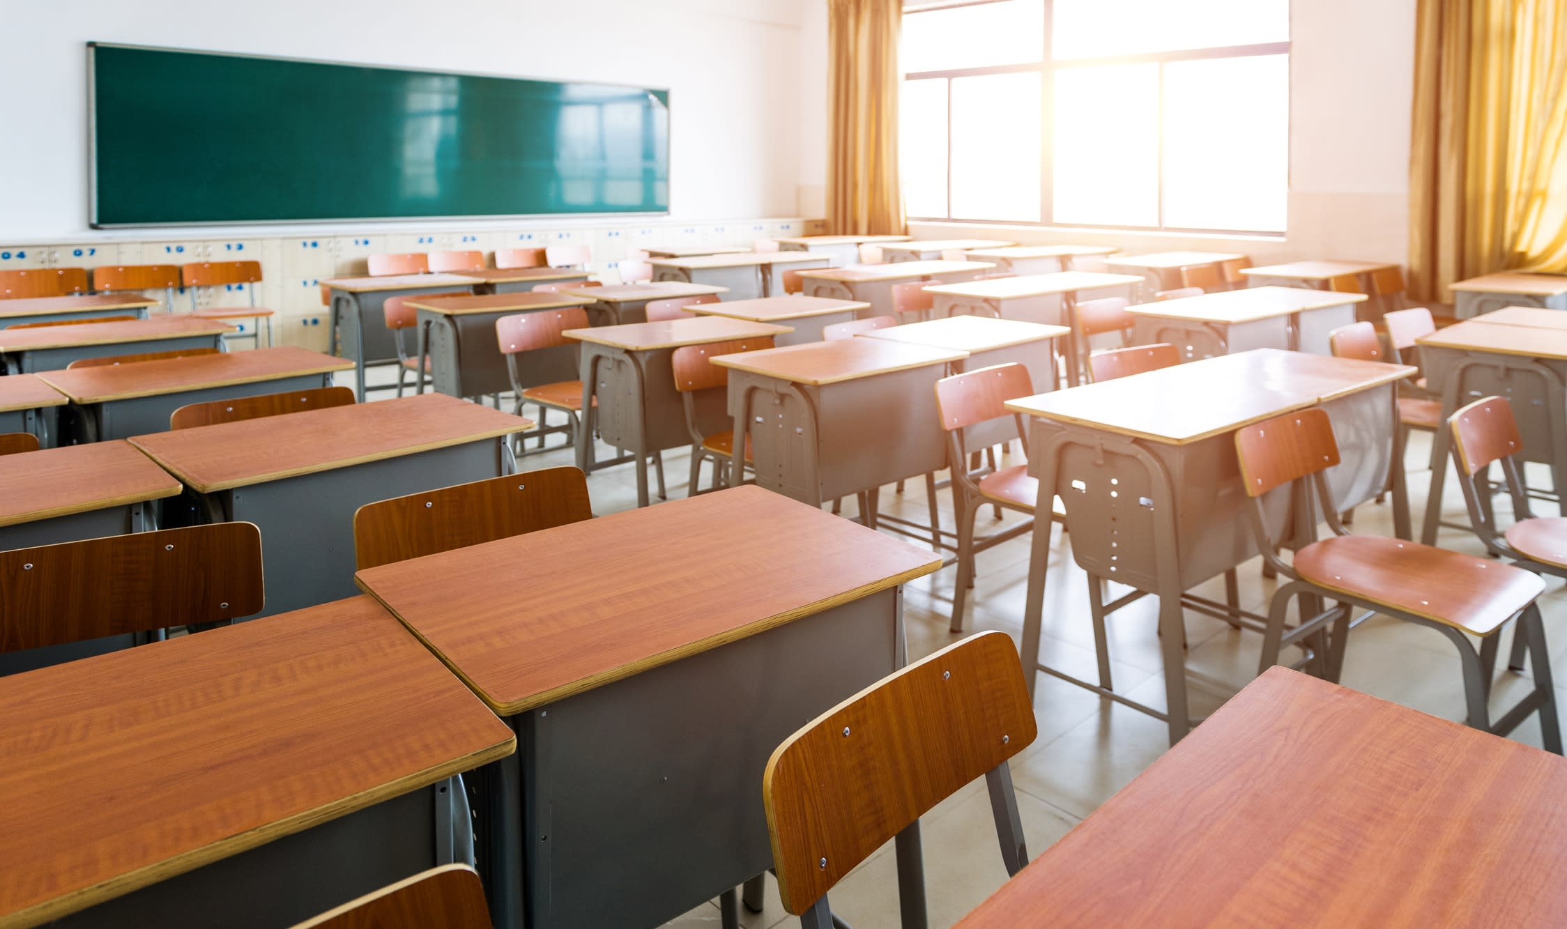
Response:
POLYGON ((136 436, 190 495, 166 523, 262 530, 266 611, 354 591, 354 511, 512 470, 506 437, 533 423, 443 393, 136 436))

